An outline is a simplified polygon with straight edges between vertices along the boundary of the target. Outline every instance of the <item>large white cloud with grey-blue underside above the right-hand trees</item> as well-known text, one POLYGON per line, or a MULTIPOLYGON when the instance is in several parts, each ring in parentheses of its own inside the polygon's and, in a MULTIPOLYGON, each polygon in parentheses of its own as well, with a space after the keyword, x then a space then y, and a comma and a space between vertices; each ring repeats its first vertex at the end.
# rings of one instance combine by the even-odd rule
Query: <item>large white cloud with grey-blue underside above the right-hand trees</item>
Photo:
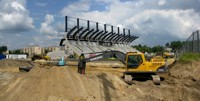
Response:
POLYGON ((136 42, 164 45, 173 40, 186 40, 194 29, 199 28, 199 17, 193 10, 146 10, 125 23, 140 37, 136 42), (151 23, 143 23, 149 19, 151 23))

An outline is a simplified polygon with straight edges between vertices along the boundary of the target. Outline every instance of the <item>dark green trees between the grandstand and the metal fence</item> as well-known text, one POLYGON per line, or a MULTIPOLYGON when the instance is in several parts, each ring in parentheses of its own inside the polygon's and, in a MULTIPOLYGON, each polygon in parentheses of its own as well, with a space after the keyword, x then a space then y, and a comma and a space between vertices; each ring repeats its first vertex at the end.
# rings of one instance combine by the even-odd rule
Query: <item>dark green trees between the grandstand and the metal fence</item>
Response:
POLYGON ((185 42, 182 42, 182 41, 172 41, 170 43, 166 43, 165 46, 156 45, 153 47, 148 47, 147 45, 139 44, 139 45, 135 45, 132 47, 136 48, 137 50, 139 50, 141 52, 156 53, 156 52, 164 52, 165 47, 171 48, 173 51, 180 50, 181 47, 184 45, 184 43, 185 42))

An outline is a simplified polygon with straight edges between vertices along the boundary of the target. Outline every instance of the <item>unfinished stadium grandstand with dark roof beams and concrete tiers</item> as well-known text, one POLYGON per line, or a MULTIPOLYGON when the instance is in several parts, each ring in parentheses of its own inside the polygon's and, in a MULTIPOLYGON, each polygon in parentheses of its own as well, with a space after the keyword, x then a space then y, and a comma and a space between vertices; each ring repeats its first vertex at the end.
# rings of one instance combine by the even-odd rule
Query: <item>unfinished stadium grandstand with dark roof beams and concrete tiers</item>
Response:
POLYGON ((66 35, 60 40, 60 46, 67 54, 93 53, 106 50, 134 52, 130 46, 137 36, 129 29, 113 25, 65 16, 66 35))

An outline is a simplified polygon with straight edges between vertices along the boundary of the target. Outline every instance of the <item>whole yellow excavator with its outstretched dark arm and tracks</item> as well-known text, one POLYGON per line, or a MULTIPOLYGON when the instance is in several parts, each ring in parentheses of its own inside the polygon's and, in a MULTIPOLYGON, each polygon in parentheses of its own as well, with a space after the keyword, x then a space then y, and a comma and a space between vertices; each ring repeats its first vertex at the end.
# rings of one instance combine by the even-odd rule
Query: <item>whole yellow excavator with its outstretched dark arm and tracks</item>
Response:
POLYGON ((79 60, 79 62, 86 63, 105 58, 118 58, 126 66, 123 74, 124 81, 128 84, 132 84, 133 79, 151 78, 154 84, 158 85, 160 84, 160 76, 157 74, 166 73, 168 71, 167 63, 162 56, 156 56, 150 61, 147 61, 144 54, 139 52, 128 52, 124 54, 120 51, 109 50, 98 52, 98 55, 79 60))

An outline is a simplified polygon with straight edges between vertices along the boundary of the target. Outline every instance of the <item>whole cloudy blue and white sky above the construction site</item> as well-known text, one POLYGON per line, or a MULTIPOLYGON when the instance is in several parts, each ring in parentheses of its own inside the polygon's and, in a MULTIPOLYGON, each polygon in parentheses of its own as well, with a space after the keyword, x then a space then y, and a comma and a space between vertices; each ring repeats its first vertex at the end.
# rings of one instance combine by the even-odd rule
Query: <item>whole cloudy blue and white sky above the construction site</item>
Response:
POLYGON ((133 45, 165 45, 200 29, 200 0, 0 0, 0 46, 58 46, 66 15, 130 29, 133 45))

